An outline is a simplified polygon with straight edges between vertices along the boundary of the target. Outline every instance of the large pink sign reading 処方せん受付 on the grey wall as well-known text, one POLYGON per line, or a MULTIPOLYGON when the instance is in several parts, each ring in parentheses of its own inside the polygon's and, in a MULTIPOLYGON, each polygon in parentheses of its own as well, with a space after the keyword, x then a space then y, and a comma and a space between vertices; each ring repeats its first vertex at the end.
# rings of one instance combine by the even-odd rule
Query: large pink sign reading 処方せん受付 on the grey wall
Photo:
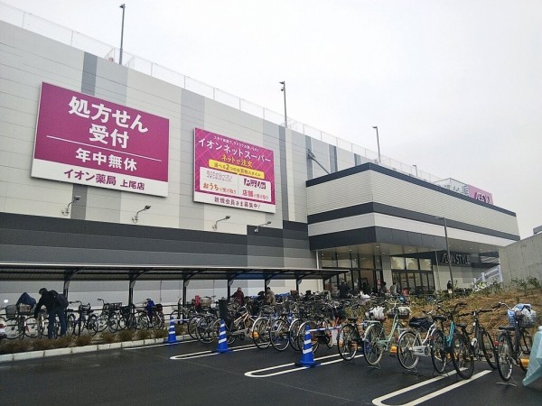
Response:
POLYGON ((42 83, 33 177, 167 196, 168 153, 166 118, 42 83))

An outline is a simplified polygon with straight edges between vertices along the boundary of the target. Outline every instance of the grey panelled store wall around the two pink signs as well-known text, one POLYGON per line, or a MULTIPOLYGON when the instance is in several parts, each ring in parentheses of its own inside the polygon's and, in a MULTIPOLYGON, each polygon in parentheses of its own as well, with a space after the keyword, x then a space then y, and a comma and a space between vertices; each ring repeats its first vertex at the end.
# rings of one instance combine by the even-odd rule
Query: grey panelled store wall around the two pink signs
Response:
MULTIPOLYGON (((316 267, 305 181, 325 172, 307 159, 307 148, 316 145, 319 159, 336 170, 335 147, 9 23, 0 22, 0 36, 1 261, 316 267), (32 178, 42 82, 167 118, 167 198, 32 178), (195 127, 273 150, 276 213, 193 201, 195 127), (75 195, 81 198, 70 216, 62 216, 75 195), (134 225, 132 217, 146 205, 152 208, 134 225), (229 221, 212 230, 226 215, 229 221)), ((352 152, 340 155, 342 166, 355 164, 352 152)), ((107 289, 124 291, 119 283, 107 289)), ((71 289, 83 284, 73 282, 71 289)), ((147 285, 155 289, 155 283, 147 285)))

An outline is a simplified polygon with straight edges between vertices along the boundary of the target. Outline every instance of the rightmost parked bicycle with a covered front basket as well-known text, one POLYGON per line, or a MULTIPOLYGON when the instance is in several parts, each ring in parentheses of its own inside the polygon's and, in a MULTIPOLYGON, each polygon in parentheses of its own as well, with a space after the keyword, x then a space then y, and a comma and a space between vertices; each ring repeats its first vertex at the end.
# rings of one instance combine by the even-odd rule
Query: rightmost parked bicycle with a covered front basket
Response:
POLYGON ((495 309, 504 306, 509 309, 509 322, 511 326, 500 326, 500 334, 495 347, 497 370, 504 381, 512 377, 514 365, 527 372, 528 356, 533 346, 533 339, 526 328, 534 327, 534 318, 530 317, 533 310, 529 305, 516 305, 510 308, 508 304, 500 302, 495 309))

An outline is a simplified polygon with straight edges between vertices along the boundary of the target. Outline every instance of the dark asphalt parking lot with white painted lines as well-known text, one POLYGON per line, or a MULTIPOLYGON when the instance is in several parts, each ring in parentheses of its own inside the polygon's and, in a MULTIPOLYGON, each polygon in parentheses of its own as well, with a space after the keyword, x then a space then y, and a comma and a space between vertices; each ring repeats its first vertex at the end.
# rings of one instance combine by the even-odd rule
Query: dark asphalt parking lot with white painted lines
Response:
POLYGON ((474 376, 433 374, 430 359, 406 372, 385 355, 380 368, 361 357, 344 362, 336 347, 320 347, 313 368, 294 364, 302 355, 287 348, 257 349, 249 340, 219 354, 194 341, 97 353, 51 356, 0 364, 3 404, 84 405, 462 405, 542 404, 542 383, 504 384, 478 363, 474 376))

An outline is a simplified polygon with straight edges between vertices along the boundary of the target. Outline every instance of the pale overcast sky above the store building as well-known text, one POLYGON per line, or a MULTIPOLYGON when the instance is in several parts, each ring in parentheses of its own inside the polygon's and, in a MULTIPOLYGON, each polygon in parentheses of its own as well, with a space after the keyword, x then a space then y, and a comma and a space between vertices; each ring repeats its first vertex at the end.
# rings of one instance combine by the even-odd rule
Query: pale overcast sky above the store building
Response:
MULTIPOLYGON (((123 1, 0 0, 112 46, 123 1)), ((542 226, 542 1, 124 0, 124 50, 542 226)), ((228 134, 234 136, 235 134, 228 134)))

